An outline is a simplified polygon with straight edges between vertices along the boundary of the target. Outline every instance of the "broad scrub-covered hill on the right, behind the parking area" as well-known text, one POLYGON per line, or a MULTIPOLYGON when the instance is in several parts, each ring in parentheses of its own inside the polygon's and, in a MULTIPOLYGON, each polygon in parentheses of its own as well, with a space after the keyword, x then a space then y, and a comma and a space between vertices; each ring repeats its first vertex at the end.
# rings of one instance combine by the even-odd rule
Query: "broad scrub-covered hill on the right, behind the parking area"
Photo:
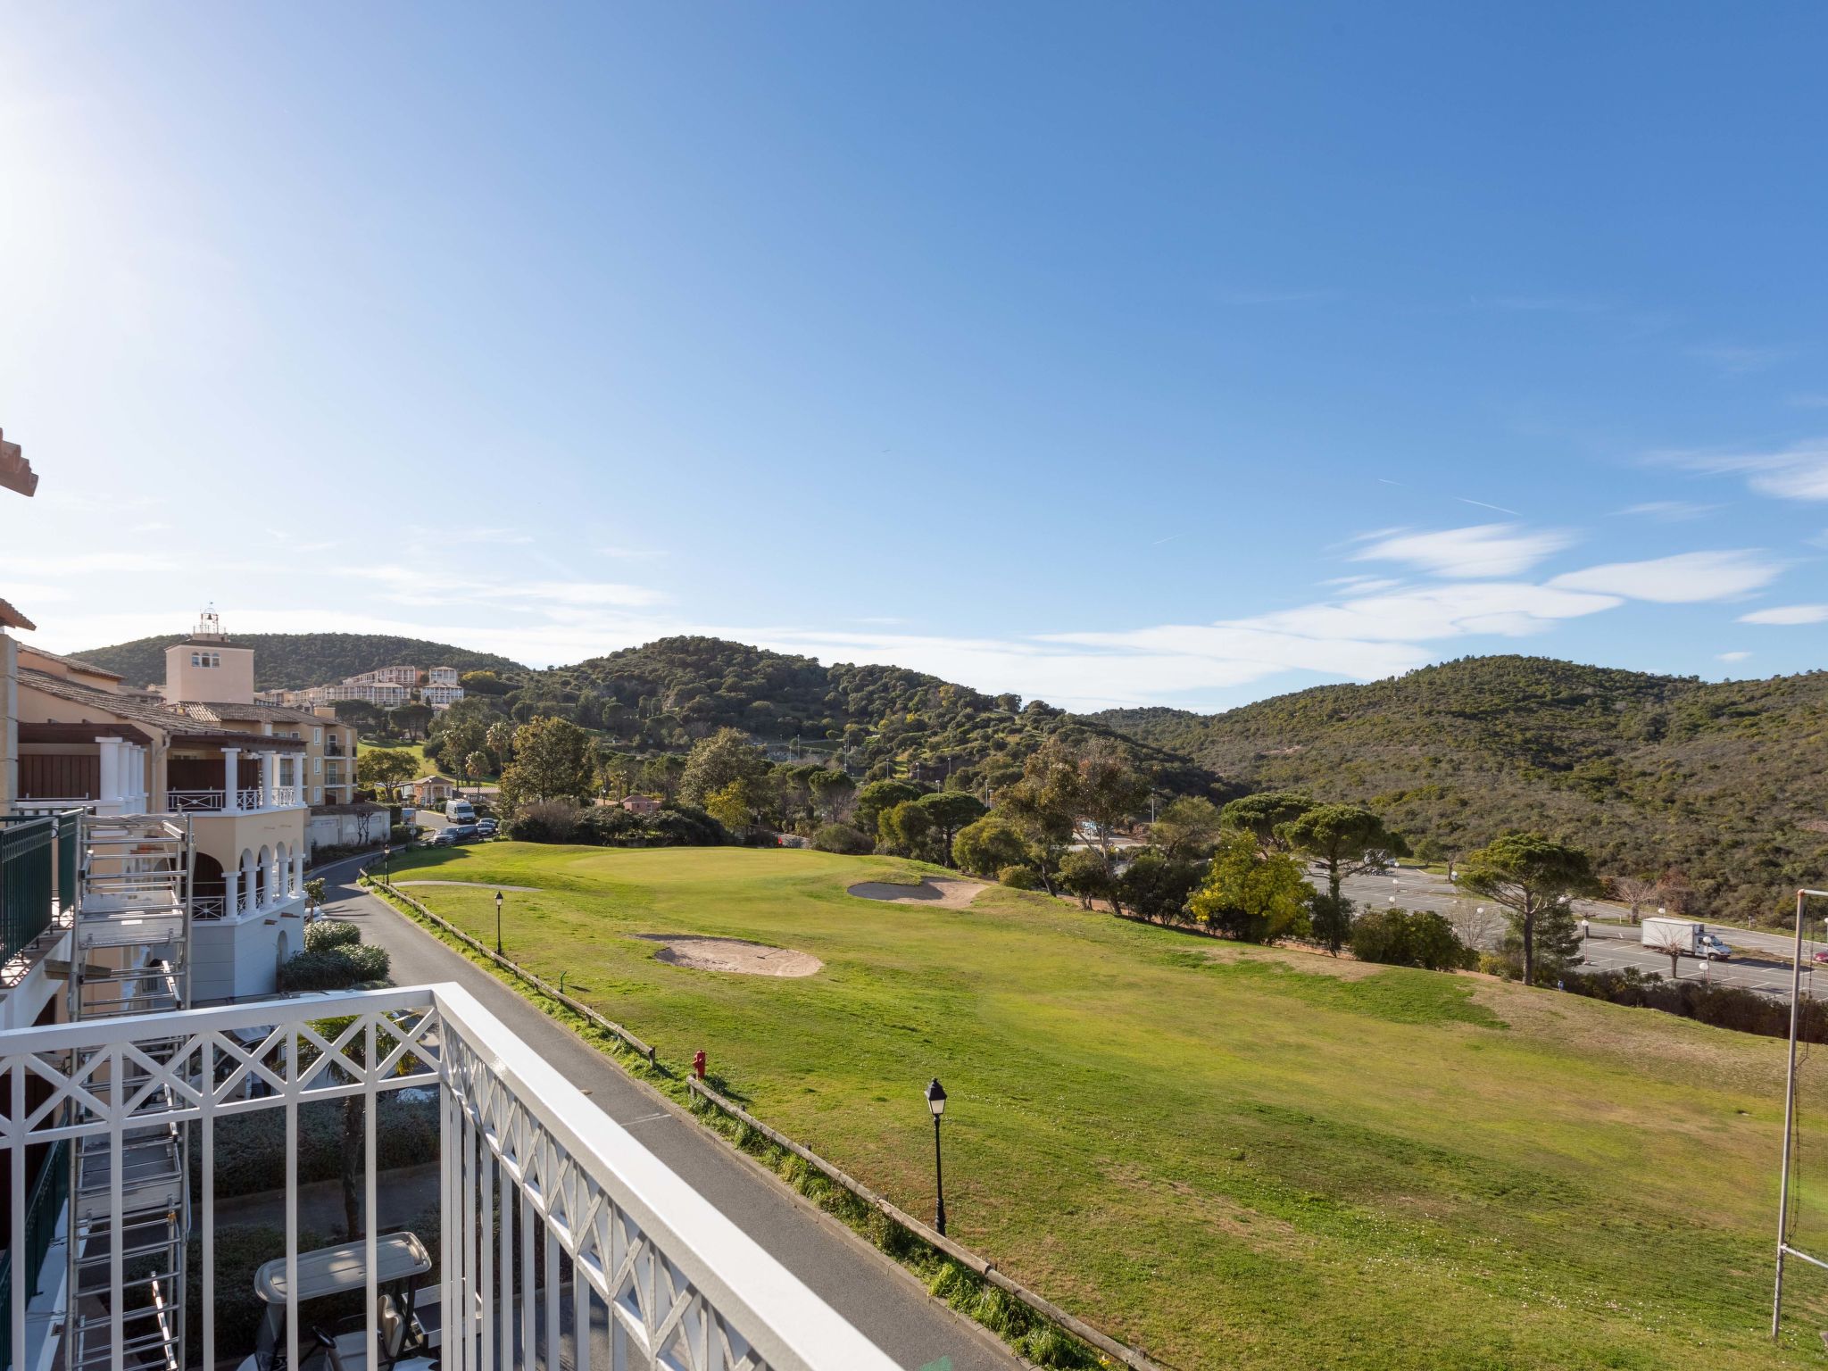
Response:
POLYGON ((1488 656, 1212 717, 1093 718, 1249 790, 1369 804, 1426 856, 1534 828, 1601 872, 1682 877, 1724 918, 1828 872, 1828 673, 1704 684, 1488 656))

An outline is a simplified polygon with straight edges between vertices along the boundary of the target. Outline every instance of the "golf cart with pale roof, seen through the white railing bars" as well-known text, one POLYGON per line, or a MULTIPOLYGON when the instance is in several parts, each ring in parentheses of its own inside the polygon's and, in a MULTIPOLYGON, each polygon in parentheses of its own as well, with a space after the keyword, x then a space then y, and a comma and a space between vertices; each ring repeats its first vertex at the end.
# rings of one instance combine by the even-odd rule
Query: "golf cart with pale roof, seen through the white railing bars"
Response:
MULTIPOLYGON (((375 1371, 437 1371, 437 1298, 428 1307, 413 1289, 431 1270, 424 1243, 409 1232, 380 1234, 375 1239, 375 1371), (430 1329, 422 1314, 431 1316, 430 1329)), ((298 1254, 300 1366, 320 1358, 318 1371, 367 1371, 366 1314, 349 1314, 324 1327, 305 1313, 307 1300, 360 1296, 366 1289, 366 1239, 298 1254)), ((260 1320, 254 1355, 238 1371, 291 1371, 285 1366, 285 1258, 274 1258, 254 1272, 254 1292, 265 1302, 267 1314, 260 1320)))

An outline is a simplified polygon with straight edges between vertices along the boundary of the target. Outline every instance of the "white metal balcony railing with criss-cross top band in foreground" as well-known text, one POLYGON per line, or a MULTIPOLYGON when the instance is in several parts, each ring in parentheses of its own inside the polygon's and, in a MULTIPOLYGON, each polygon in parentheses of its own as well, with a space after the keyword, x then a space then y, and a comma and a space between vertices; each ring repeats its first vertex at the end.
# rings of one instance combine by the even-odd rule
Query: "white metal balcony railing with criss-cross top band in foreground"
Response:
MULTIPOLYGON (((104 1174, 113 1181, 86 1199, 84 1217, 119 1230, 128 1212, 122 1148, 130 1152, 148 1132, 197 1124, 201 1192, 190 1230, 201 1261, 185 1280, 201 1281, 203 1316, 177 1349, 192 1366, 247 1351, 221 1345, 214 1318, 216 1121, 252 1110, 285 1113, 289 1238, 272 1256, 285 1259, 285 1366, 298 1367, 302 1351, 316 1362, 309 1334, 300 1347, 307 1323, 298 1309, 298 1110, 349 1095, 369 1102, 364 1212, 373 1216, 373 1100, 382 1091, 433 1088, 442 1100, 442 1241, 420 1303, 439 1303, 439 1356, 452 1371, 896 1367, 457 985, 15 1029, 0 1033, 0 1080, 11 1082, 0 1093, 0 1175, 11 1175, 15 1227, 24 1214, 24 1148, 77 1139, 73 1146, 106 1153, 104 1174), (40 1082, 29 1108, 27 1079, 40 1082), (537 1281, 541 1270, 545 1281, 537 1281)), ((364 1245, 362 1364, 375 1367, 373 1225, 364 1245)), ((101 1313, 86 1322, 104 1344, 112 1327, 110 1360, 121 1371, 132 1349, 122 1356, 119 1250, 108 1265, 110 1289, 101 1300, 86 1296, 101 1313)), ((24 1283, 20 1263, 11 1272, 13 1347, 26 1345, 31 1292, 24 1283)))

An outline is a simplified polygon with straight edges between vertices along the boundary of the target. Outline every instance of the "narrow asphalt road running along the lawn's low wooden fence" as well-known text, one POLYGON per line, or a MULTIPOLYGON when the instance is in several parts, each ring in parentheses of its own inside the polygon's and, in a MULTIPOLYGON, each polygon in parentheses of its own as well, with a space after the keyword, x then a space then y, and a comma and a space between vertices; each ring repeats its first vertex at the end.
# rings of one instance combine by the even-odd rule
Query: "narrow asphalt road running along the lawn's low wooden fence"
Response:
POLYGON ((934 1302, 907 1270, 856 1234, 819 1216, 782 1185, 760 1175, 724 1142, 625 1077, 603 1053, 578 1040, 526 1000, 466 962, 417 923, 351 885, 356 863, 327 876, 325 910, 362 925, 364 941, 393 956, 399 985, 457 982, 490 1013, 534 1044, 611 1119, 715 1203, 799 1280, 905 1367, 952 1358, 954 1371, 1015 1371, 1000 1342, 934 1302))

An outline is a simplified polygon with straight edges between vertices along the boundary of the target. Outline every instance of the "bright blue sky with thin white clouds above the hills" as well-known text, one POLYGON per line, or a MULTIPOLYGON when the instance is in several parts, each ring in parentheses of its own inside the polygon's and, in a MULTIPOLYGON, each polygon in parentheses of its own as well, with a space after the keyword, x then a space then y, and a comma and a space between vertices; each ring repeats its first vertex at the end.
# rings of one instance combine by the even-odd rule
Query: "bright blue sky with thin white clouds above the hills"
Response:
POLYGON ((53 649, 1823 665, 1813 5, 0 13, 53 649))

